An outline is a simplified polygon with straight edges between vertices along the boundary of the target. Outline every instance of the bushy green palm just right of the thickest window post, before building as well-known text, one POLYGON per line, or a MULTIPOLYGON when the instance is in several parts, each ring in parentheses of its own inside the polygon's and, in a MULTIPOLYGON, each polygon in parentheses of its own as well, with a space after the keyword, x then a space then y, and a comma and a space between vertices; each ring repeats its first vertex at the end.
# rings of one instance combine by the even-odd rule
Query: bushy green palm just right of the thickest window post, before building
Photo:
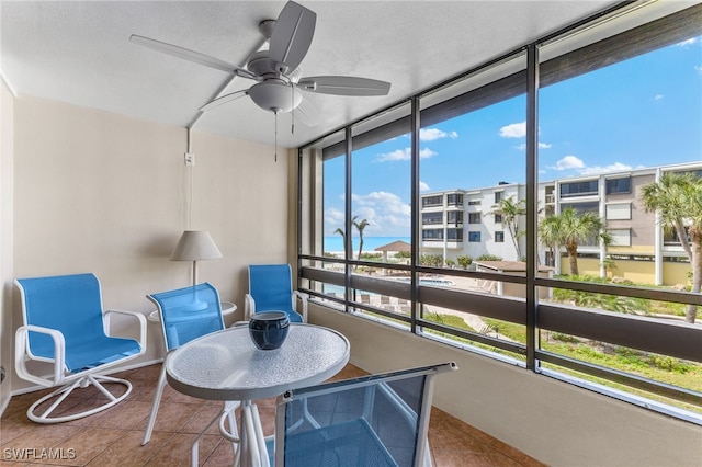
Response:
POLYGON ((568 253, 570 274, 578 275, 578 244, 597 236, 604 246, 612 243, 612 237, 604 231, 604 221, 595 213, 578 213, 573 207, 566 207, 555 216, 542 220, 539 226, 540 237, 544 234, 542 242, 557 251, 564 246, 568 253), (546 227, 543 227, 543 226, 546 227))

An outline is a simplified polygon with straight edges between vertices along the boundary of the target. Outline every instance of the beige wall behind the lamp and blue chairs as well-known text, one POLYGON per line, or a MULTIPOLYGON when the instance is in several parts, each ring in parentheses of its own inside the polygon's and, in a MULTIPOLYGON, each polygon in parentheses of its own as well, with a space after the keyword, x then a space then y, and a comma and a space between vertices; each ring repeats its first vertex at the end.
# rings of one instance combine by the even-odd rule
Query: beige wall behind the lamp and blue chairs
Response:
MULTIPOLYGON (((246 265, 287 259, 288 164, 272 146, 193 132, 186 168, 184 128, 25 96, 14 124, 14 271, 2 277, 12 331, 22 321, 14 277, 93 272, 106 308, 144 314, 147 293, 190 284, 192 263, 168 258, 189 227, 191 175, 192 228, 210 230, 224 254, 200 262, 199 280, 237 304, 229 322, 244 307, 246 265)), ((148 339, 135 365, 162 356, 158 324, 148 339)))

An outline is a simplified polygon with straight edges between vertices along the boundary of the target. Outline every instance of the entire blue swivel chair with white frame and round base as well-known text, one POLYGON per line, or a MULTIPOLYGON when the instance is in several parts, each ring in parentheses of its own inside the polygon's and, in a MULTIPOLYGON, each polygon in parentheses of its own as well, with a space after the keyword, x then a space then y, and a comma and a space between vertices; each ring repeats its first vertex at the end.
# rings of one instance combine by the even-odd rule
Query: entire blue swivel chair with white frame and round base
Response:
POLYGON ((18 278, 14 283, 20 289, 24 320, 15 333, 16 373, 20 378, 39 386, 58 387, 30 407, 26 412, 30 420, 37 423, 66 422, 100 412, 124 400, 132 392, 132 384, 105 376, 104 372, 144 353, 144 316, 103 310, 100 282, 93 274, 18 278), (109 335, 112 316, 116 314, 136 321, 138 341, 109 335), (38 367, 34 362, 48 363, 52 373, 36 374, 38 367), (118 391, 109 389, 113 384, 125 386, 126 390, 117 396, 118 391), (106 397, 102 406, 79 412, 63 409, 61 402, 73 389, 90 385, 106 397), (61 409, 56 410, 59 407, 61 409))

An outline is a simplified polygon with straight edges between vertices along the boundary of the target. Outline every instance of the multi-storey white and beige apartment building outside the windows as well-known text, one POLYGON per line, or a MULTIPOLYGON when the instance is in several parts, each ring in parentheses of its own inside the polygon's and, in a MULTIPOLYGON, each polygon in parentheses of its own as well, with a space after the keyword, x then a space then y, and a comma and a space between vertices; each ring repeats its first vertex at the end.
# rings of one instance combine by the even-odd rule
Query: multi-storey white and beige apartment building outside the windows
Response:
MULTIPOLYGON (((675 232, 665 231, 656 213, 642 205, 644 186, 666 172, 702 173, 702 163, 686 163, 615 171, 539 183, 539 217, 552 216, 571 207, 596 213, 605 220, 612 238, 609 248, 589 239, 578 247, 581 274, 620 276, 636 283, 675 285, 687 282, 689 259, 675 232)), ((523 183, 500 182, 476 190, 449 190, 421 196, 421 250, 455 261, 460 255, 480 255, 519 261, 525 251, 523 237, 514 240, 499 203, 525 198, 523 183)), ((519 218, 524 231, 525 216, 519 218)), ((518 236, 519 237, 519 236, 518 236)), ((565 252, 554 261, 540 244, 541 264, 556 272, 567 271, 565 252)))

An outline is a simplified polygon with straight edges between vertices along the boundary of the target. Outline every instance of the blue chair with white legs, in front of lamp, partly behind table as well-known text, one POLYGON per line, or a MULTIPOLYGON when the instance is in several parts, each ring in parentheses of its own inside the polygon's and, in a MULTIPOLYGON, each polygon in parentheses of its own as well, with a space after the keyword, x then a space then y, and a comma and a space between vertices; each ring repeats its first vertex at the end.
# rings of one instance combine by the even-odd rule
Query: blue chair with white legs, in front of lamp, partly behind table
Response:
MULTIPOLYGON (((220 331, 225 328, 219 294, 210 283, 158 294, 149 294, 147 298, 158 308, 167 353, 193 339, 211 332, 220 331)), ((162 365, 141 445, 147 444, 151 438, 166 383, 166 365, 162 365)), ((222 412, 214 418, 195 438, 192 449, 193 465, 197 465, 197 444, 200 437, 216 420, 219 420, 219 429, 223 435, 233 442, 231 447, 235 455, 238 453, 236 443, 239 442, 239 438, 237 437, 236 420, 234 418, 234 411, 237 407, 239 407, 238 401, 225 402, 222 412), (229 422, 229 431, 225 429, 225 420, 229 422)))

